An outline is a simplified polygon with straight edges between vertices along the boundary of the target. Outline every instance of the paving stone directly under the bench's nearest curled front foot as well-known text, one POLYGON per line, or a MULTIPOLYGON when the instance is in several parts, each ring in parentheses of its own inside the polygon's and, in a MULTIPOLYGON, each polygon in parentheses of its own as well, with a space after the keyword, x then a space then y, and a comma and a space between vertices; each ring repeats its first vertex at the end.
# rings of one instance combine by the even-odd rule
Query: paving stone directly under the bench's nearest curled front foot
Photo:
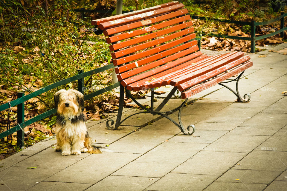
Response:
POLYGON ((226 133, 228 133, 228 131, 197 129, 190 136, 179 134, 172 137, 169 141, 184 142, 184 143, 212 143, 213 141, 219 139, 222 135, 226 133))

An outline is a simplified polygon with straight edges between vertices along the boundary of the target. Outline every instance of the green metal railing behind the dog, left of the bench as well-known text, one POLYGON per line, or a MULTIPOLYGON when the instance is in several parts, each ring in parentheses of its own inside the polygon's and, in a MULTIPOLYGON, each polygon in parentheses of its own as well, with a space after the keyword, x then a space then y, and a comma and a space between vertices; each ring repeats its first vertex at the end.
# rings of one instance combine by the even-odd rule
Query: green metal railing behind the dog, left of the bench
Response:
MULTIPOLYGON (((15 133, 17 131, 17 145, 19 147, 23 147, 24 146, 24 132, 21 130, 24 129, 24 127, 30 125, 30 124, 33 124, 35 123, 36 121, 39 121, 43 118, 46 118, 54 113, 56 113, 56 110, 55 109, 51 109, 51 110, 48 110, 46 111, 45 113, 42 113, 40 115, 37 115, 27 121, 25 121, 25 116, 24 116, 24 102, 29 100, 30 98, 33 98, 33 97, 36 97, 36 96, 39 96, 40 94, 42 93, 45 93, 49 90, 52 90, 54 88, 57 88, 59 86, 62 86, 64 84, 67 84, 67 83, 70 83, 72 81, 76 81, 77 80, 77 83, 78 83, 78 91, 80 91, 81 93, 84 94, 84 78, 87 77, 87 76, 91 76, 93 74, 96 74, 96 73, 100 73, 100 72, 103 72, 105 70, 109 70, 111 68, 113 68, 114 65, 113 64, 109 64, 109 65, 106 65, 106 66, 103 66, 103 67, 100 67, 100 68, 97 68, 97 69, 94 69, 94 70, 91 70, 91 71, 88 71, 88 72, 84 72, 83 73, 83 70, 78 70, 78 74, 75 75, 75 76, 72 76, 70 78, 66 78, 66 79, 63 79, 61 81, 58 81, 54 84, 51 84, 51 85, 48 85, 46 87, 43 87, 39 90, 36 90, 35 92, 33 93, 30 93, 28 95, 25 96, 24 92, 18 92, 18 98, 13 100, 13 101, 10 101, 10 104, 11 104, 11 107, 13 106, 16 106, 17 105, 17 121, 19 123, 19 125, 16 125, 15 127, 12 127, 10 128, 9 130, 6 130, 2 133, 0 133, 0 139, 8 136, 8 135, 11 135, 12 133, 15 133)), ((90 99, 90 98, 93 98, 97 95, 100 95, 102 93, 105 93, 107 91, 110 91, 116 87, 118 87, 120 84, 119 82, 117 82, 116 84, 112 84, 108 87, 105 87, 103 89, 100 89, 100 90, 97 90, 93 93, 90 93, 90 94, 87 94, 87 95, 84 95, 84 100, 87 100, 87 99, 90 99)), ((3 111, 3 110, 6 110, 6 109, 9 109, 10 110, 10 107, 9 107, 9 103, 6 103, 6 104, 2 104, 0 105, 0 111, 3 111)))

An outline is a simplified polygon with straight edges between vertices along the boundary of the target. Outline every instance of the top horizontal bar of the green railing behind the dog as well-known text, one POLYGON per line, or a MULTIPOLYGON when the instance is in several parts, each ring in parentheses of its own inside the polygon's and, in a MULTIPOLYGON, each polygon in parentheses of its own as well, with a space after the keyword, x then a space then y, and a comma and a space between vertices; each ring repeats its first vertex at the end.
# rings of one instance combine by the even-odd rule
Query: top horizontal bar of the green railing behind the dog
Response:
MULTIPOLYGON (((51 89, 54 89, 56 87, 59 87, 61 85, 67 84, 69 82, 72 82, 72 81, 75 81, 75 80, 78 80, 78 79, 81 79, 81 78, 84 78, 84 77, 87 77, 87 76, 91 76, 94 73, 99 73, 99 72, 103 72, 105 70, 109 70, 109 69, 111 69, 113 67, 114 67, 114 64, 108 64, 106 66, 103 66, 103 67, 100 67, 100 68, 96 68, 94 70, 91 70, 91 71, 88 71, 88 72, 85 72, 85 73, 77 74, 75 76, 63 79, 61 81, 57 81, 54 84, 50 84, 50 85, 48 85, 46 87, 43 87, 43 88, 41 88, 39 90, 36 90, 33 93, 30 93, 30 94, 26 95, 26 96, 23 96, 21 98, 18 98, 18 99, 15 99, 13 101, 10 101, 11 107, 13 107, 15 105, 18 105, 20 103, 23 103, 24 101, 27 101, 30 98, 39 96, 40 94, 45 93, 45 92, 47 92, 47 91, 49 91, 51 89)), ((8 108, 9 108, 9 104, 8 103, 0 105, 0 111, 6 110, 8 108)))

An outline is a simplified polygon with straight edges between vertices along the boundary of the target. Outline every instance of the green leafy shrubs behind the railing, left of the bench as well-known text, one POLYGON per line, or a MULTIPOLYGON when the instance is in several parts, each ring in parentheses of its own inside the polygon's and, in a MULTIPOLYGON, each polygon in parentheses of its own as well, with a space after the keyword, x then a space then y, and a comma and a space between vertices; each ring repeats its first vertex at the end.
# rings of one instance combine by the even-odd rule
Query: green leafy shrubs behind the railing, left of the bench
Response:
MULTIPOLYGON (((91 18, 80 19, 81 13, 72 11, 74 6, 75 1, 49 1, 48 9, 36 0, 5 1, 0 7, 4 23, 0 30, 0 84, 31 92, 36 79, 45 87, 76 75, 77 70, 89 71, 110 62, 104 37, 93 34, 91 18)), ((106 75, 94 77, 86 85, 101 83, 106 75)), ((55 91, 42 95, 50 108, 55 91)))

